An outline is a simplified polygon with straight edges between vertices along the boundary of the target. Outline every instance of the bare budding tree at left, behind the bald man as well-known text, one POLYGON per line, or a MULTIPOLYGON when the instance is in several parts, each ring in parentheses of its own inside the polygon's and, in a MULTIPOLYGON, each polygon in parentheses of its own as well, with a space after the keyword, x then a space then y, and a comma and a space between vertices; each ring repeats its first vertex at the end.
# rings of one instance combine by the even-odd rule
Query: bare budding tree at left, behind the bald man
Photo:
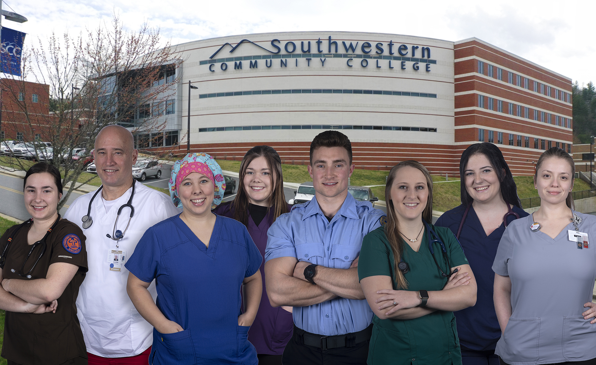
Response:
MULTIPOLYGON (((159 30, 145 23, 138 32, 127 32, 114 16, 109 26, 75 38, 52 33, 45 41, 38 39, 23 57, 23 76, 1 79, 5 95, 2 130, 29 146, 24 157, 61 169, 68 190, 58 209, 73 190, 94 178, 79 181, 91 161, 95 137, 104 126, 117 123, 136 136, 146 136, 137 138, 139 148, 148 147, 149 138, 154 145, 162 141, 163 146, 159 132, 169 118, 176 117, 176 70, 181 60, 175 52, 169 44, 162 44, 159 30), (39 99, 44 95, 41 92, 36 94, 38 100, 32 100, 35 88, 43 87, 48 88, 46 100, 39 99), (51 149, 42 144, 46 141, 51 142, 51 149)), ((152 151, 159 158, 175 148, 152 151)), ((0 165, 21 170, 30 166, 14 151, 7 156, 4 150, 0 165)))

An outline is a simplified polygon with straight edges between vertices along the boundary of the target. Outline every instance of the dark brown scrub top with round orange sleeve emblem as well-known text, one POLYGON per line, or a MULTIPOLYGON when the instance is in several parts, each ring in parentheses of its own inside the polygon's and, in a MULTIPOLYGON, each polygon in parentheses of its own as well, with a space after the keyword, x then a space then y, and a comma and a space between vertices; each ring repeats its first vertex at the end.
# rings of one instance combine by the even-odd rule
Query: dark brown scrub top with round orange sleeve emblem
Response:
POLYGON ((26 274, 42 252, 44 245, 38 245, 23 271, 20 271, 31 249, 27 245, 27 233, 31 226, 32 223, 25 224, 13 237, 12 234, 18 227, 13 225, 0 238, 0 249, 4 251, 8 237, 12 237, 2 270, 4 279, 44 279, 49 265, 54 262, 68 262, 79 266, 79 270, 58 298, 56 313, 6 312, 2 357, 23 365, 57 365, 79 356, 87 358, 83 333, 76 315, 79 286, 87 272, 85 235, 76 224, 66 219, 58 222, 46 239, 46 251, 30 273, 31 279, 27 279, 12 273, 11 269, 26 274))

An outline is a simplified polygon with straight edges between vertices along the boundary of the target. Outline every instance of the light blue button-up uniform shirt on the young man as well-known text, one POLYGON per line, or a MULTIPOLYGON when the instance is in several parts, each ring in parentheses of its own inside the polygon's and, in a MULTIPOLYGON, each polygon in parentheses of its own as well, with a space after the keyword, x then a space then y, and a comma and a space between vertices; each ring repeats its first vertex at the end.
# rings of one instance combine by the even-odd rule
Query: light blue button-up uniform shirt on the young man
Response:
MULTIPOLYGON (((328 221, 313 198, 280 215, 267 233, 265 262, 278 257, 331 268, 347 269, 360 255, 362 239, 381 226, 380 209, 357 202, 347 194, 342 208, 328 221)), ((366 299, 334 298, 327 302, 294 307, 294 324, 307 332, 333 336, 358 332, 371 324, 373 311, 366 299)))

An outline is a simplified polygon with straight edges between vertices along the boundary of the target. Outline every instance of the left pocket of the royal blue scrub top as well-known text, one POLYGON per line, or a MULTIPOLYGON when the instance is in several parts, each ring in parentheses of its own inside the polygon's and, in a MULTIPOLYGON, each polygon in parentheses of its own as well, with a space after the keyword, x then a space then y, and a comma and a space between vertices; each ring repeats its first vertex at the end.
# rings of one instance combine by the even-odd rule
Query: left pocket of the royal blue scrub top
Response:
POLYGON ((155 348, 152 359, 154 365, 196 363, 190 329, 174 333, 157 332, 157 336, 153 338, 153 347, 155 348))

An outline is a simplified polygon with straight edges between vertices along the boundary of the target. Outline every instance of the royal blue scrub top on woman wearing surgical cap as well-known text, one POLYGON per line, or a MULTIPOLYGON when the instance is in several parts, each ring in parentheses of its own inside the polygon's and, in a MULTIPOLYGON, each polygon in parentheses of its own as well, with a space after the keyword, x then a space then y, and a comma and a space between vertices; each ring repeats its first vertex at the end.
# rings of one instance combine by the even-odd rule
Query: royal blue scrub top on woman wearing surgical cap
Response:
POLYGON ((153 329, 150 363, 258 363, 249 327, 238 326, 242 282, 262 261, 243 224, 218 215, 207 248, 175 215, 145 231, 137 247, 126 268, 144 282, 156 279, 157 308, 184 329, 153 329))

